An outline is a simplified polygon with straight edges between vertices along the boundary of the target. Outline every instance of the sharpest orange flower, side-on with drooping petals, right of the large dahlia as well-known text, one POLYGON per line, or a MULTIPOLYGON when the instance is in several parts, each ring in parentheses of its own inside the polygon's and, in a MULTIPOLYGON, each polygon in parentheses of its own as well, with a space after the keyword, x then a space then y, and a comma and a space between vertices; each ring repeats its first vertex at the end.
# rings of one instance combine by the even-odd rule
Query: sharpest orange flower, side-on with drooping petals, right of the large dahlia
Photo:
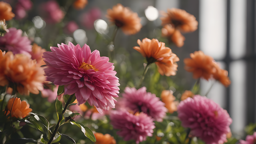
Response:
POLYGON ((144 38, 142 41, 138 40, 137 43, 140 46, 134 46, 133 48, 146 57, 148 64, 155 62, 161 75, 176 75, 178 67, 176 62, 180 59, 172 53, 170 48, 165 47, 164 42, 159 42, 154 38, 152 40, 144 38))

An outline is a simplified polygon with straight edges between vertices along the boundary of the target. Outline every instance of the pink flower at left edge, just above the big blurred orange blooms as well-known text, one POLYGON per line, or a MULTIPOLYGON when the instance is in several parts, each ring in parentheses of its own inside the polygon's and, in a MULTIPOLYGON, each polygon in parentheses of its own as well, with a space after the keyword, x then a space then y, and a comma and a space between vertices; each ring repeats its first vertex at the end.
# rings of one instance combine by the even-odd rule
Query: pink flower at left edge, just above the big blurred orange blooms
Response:
POLYGON ((11 51, 13 54, 25 54, 31 58, 31 42, 26 36, 22 36, 22 30, 9 28, 4 36, 0 36, 0 49, 11 51))

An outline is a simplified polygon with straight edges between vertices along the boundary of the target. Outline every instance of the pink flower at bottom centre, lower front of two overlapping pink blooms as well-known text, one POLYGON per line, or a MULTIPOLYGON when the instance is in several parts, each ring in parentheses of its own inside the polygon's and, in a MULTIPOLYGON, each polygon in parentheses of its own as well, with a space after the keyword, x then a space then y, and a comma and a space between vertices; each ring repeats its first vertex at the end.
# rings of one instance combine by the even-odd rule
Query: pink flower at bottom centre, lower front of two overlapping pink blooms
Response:
POLYGON ((137 144, 146 140, 147 136, 152 136, 155 128, 153 119, 143 112, 133 115, 127 111, 113 110, 110 120, 114 129, 120 129, 117 132, 119 136, 126 141, 136 140, 137 144))

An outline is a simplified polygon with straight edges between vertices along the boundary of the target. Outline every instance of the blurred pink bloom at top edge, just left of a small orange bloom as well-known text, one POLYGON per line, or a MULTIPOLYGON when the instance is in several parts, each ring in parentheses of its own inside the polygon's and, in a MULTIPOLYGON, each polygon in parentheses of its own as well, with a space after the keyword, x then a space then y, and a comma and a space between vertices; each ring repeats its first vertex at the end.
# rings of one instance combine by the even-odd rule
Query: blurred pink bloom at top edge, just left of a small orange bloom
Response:
POLYGON ((56 1, 48 1, 42 4, 43 17, 48 23, 59 23, 64 18, 64 12, 56 1))

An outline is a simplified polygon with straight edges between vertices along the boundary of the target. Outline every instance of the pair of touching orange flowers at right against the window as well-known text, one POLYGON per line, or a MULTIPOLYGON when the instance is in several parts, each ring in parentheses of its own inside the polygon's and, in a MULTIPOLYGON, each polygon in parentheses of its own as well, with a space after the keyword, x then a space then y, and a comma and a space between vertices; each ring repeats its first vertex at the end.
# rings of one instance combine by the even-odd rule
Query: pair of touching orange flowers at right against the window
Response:
POLYGON ((202 51, 195 51, 190 54, 191 58, 185 58, 185 70, 193 73, 193 78, 214 78, 228 87, 231 81, 228 78, 228 71, 222 70, 212 57, 205 55, 202 51))

